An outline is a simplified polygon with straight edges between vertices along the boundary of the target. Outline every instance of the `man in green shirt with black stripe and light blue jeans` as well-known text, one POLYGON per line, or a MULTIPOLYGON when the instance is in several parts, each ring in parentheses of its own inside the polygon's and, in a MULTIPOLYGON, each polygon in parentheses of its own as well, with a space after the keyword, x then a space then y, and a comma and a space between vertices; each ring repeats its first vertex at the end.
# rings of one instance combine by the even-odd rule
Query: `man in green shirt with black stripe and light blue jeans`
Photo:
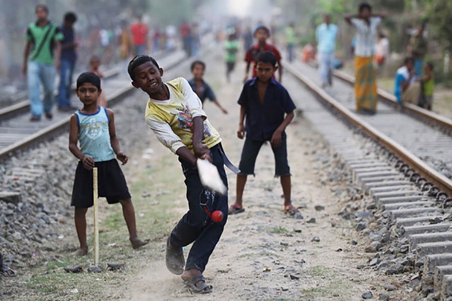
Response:
POLYGON ((63 39, 58 27, 48 20, 49 9, 43 4, 35 8, 36 22, 27 29, 22 71, 27 74, 31 121, 41 120, 42 113, 52 119, 55 73, 60 66, 60 41, 63 39), (44 88, 41 100, 40 82, 44 88))

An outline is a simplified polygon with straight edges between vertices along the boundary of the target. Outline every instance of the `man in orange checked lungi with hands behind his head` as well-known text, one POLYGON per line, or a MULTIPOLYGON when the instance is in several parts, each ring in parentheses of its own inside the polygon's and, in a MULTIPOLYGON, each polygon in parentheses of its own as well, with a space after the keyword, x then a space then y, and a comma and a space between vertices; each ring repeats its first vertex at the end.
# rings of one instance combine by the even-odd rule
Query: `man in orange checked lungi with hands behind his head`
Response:
POLYGON ((384 18, 373 14, 372 7, 363 3, 358 15, 347 15, 345 21, 356 28, 355 48, 355 99, 358 113, 375 114, 377 110, 377 83, 373 56, 378 25, 384 18))

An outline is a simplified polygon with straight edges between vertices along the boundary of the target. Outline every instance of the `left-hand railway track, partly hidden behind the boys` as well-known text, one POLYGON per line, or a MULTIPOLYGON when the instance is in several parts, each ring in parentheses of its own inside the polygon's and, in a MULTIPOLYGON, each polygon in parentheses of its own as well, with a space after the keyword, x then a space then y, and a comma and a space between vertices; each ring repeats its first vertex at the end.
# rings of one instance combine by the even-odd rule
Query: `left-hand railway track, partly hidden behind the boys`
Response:
MULTIPOLYGON (((185 58, 185 53, 179 50, 162 57, 159 61, 166 69, 171 69, 185 58)), ((102 89, 106 93, 109 106, 115 105, 134 89, 130 84, 130 79, 115 77, 118 73, 118 68, 106 72, 109 79, 104 82, 102 89)), ((59 111, 55 111, 52 120, 43 119, 40 122, 30 122, 28 107, 29 101, 27 100, 0 110, 0 159, 51 136, 69 124, 71 112, 59 111)))

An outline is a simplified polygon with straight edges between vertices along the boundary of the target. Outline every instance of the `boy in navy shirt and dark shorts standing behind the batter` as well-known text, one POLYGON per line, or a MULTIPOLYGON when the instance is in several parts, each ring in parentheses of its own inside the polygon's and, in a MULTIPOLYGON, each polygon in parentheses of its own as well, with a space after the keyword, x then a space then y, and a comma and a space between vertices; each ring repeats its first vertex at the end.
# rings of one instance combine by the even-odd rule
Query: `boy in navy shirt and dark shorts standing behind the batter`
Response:
POLYGON ((275 55, 269 51, 261 52, 256 58, 257 77, 245 83, 238 101, 241 107, 237 136, 243 139, 246 132, 247 137, 237 175, 236 202, 231 205, 230 214, 245 211, 242 196, 247 176, 254 175, 257 155, 266 141, 270 141, 275 156, 275 177, 280 177, 284 211, 290 215, 298 212, 290 200, 290 169, 284 131, 294 117, 295 104, 287 90, 273 78, 277 69, 275 55))

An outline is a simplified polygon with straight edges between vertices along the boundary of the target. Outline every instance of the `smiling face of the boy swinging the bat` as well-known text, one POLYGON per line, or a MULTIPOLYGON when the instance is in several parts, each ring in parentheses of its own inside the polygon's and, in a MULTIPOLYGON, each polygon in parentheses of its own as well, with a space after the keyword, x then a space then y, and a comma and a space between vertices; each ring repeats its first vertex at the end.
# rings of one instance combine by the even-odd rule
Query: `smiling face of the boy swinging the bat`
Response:
POLYGON ((152 62, 146 62, 136 67, 134 75, 132 85, 137 89, 142 89, 150 96, 163 89, 163 69, 157 68, 152 62))

